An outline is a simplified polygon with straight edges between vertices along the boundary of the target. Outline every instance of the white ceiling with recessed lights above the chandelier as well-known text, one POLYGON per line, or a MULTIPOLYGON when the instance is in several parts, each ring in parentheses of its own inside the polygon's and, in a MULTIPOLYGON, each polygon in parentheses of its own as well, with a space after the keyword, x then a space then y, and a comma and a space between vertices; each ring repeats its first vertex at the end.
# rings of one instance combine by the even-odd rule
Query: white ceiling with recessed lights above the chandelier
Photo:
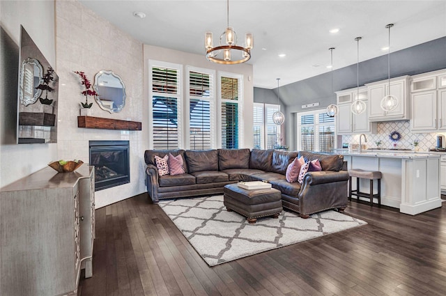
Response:
MULTIPOLYGON (((81 0, 119 29, 144 44, 203 54, 204 33, 214 44, 226 28, 226 1, 116 1, 81 0), (133 16, 146 13, 144 19, 133 16)), ((361 36, 360 61, 446 36, 446 1, 229 1, 229 25, 243 45, 246 32, 254 34, 254 86, 276 88, 357 61, 355 37, 361 36), (339 33, 329 33, 339 28, 339 33), (284 58, 278 54, 284 53, 284 58), (318 65, 318 66, 314 66, 318 65)), ((446 54, 446 53, 445 53, 446 54)), ((236 67, 236 66, 234 66, 236 67)))

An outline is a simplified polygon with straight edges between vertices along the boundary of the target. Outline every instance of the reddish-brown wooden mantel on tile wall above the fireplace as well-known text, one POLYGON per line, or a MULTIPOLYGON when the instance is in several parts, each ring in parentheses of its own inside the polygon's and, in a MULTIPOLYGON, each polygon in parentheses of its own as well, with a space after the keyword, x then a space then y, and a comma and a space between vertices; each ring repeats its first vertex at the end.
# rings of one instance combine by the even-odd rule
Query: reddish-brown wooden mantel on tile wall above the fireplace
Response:
POLYGON ((112 118, 77 116, 77 127, 98 128, 104 130, 141 130, 141 123, 138 121, 112 118))

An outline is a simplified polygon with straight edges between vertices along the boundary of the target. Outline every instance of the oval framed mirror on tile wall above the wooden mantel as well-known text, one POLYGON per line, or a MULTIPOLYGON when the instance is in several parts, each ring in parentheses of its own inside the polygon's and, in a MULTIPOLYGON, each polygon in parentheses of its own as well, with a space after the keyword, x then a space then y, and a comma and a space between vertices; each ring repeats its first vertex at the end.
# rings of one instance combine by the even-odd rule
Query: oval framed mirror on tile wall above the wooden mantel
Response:
POLYGON ((99 107, 110 113, 119 112, 125 105, 125 85, 121 77, 112 71, 100 70, 95 75, 93 89, 98 93, 99 107))

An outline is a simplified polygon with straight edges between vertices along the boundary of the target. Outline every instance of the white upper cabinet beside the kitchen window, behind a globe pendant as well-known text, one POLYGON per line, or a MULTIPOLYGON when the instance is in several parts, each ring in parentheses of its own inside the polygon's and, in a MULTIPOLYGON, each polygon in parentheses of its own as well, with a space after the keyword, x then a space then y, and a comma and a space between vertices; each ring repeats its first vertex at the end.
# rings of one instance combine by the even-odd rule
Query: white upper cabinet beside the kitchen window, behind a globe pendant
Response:
MULTIPOLYGON (((369 122, 367 111, 362 114, 353 114, 351 104, 357 98, 357 88, 337 91, 337 134, 375 133, 376 123, 369 122)), ((367 104, 367 88, 359 89, 359 99, 367 104)))

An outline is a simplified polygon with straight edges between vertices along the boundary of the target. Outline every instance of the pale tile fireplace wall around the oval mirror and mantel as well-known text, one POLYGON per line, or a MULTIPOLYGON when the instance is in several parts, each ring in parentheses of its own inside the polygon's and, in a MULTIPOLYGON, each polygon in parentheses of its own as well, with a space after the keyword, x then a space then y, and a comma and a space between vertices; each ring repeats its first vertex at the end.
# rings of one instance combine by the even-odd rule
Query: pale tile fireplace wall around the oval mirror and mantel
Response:
POLYGON ((56 1, 56 72, 59 75, 59 159, 89 162, 90 140, 130 141, 130 183, 96 192, 96 208, 145 192, 144 131, 95 130, 77 127, 82 86, 74 70, 93 83, 100 70, 112 70, 124 81, 127 98, 121 112, 110 114, 93 102, 91 116, 142 121, 143 46, 138 40, 78 1, 56 1))

